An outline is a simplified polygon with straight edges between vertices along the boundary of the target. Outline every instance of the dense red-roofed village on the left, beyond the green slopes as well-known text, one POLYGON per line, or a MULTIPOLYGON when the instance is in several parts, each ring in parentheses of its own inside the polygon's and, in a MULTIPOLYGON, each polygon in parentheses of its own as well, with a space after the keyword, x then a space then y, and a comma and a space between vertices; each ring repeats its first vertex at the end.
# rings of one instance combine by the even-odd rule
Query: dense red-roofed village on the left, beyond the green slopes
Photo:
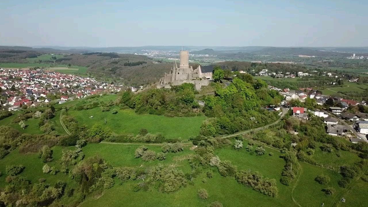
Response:
MULTIPOLYGON (((79 77, 51 70, 0 69, 0 104, 9 111, 36 107, 54 101, 64 103, 90 95, 115 93, 125 86, 103 83, 95 78, 79 77)), ((137 88, 131 87, 132 91, 137 88)))

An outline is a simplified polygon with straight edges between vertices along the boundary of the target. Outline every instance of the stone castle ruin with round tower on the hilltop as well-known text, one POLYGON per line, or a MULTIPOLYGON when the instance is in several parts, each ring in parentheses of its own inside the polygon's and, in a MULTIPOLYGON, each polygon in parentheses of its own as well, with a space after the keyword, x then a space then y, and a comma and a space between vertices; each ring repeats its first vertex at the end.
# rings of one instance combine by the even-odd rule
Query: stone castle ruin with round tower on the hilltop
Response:
POLYGON ((192 66, 189 66, 189 51, 180 50, 180 65, 177 66, 175 61, 174 67, 170 73, 165 73, 157 85, 157 88, 171 88, 171 85, 181 85, 183 83, 192 83, 197 91, 201 90, 201 87, 208 85, 212 81, 212 71, 202 72, 201 66, 193 70, 192 66))

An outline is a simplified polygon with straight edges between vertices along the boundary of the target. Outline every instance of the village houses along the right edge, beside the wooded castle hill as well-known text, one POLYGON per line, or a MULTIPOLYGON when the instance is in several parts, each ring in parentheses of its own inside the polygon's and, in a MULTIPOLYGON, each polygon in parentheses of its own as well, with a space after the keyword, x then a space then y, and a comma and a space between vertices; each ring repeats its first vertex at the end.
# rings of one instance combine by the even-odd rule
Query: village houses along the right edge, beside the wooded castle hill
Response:
MULTIPOLYGON (((308 113, 323 117, 324 123, 327 124, 326 133, 333 136, 346 136, 352 143, 368 142, 368 114, 354 110, 358 106, 367 105, 365 101, 358 102, 340 97, 330 97, 318 93, 313 88, 299 88, 299 90, 284 88, 281 90, 270 85, 268 88, 279 91, 284 96, 281 106, 290 108, 294 117, 306 120, 308 119, 308 113), (305 102, 307 98, 314 99, 320 109, 290 107, 289 103, 291 101, 305 102), (322 106, 325 110, 322 109, 322 106)), ((280 110, 279 107, 274 107, 274 109, 280 110)))

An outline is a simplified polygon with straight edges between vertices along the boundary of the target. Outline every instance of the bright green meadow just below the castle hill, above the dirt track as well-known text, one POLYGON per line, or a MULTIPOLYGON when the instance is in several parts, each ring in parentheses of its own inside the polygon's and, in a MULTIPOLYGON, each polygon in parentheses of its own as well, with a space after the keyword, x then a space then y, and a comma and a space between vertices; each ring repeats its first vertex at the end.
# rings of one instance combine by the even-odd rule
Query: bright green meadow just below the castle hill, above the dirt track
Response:
MULTIPOLYGON (((118 109, 118 107, 113 108, 118 109)), ((140 129, 144 128, 149 133, 162 133, 167 138, 181 139, 197 136, 201 124, 206 118, 205 116, 166 117, 151 114, 138 115, 132 109, 118 109, 117 114, 112 114, 111 111, 102 112, 100 107, 89 110, 69 111, 68 113, 74 116, 81 124, 91 127, 93 124, 98 123, 117 134, 137 134, 140 129), (105 118, 107 120, 106 124, 105 118)))

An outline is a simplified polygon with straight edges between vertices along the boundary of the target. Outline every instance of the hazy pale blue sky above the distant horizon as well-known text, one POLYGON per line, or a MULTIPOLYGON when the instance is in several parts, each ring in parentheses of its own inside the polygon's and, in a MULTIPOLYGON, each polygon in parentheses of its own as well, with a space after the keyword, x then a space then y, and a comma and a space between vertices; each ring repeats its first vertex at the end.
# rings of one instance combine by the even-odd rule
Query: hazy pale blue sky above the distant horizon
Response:
POLYGON ((1 0, 0 45, 368 46, 367 0, 1 0))

